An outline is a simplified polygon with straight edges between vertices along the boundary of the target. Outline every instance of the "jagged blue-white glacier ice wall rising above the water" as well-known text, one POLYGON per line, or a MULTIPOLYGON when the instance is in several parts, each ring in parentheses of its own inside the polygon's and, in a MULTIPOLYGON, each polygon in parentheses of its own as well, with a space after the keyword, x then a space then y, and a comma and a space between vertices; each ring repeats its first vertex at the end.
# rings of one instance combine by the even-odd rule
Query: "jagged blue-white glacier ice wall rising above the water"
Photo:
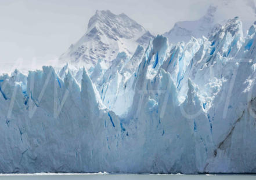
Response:
POLYGON ((107 70, 2 75, 0 172, 255 173, 255 47, 256 23, 243 36, 235 17, 107 70))

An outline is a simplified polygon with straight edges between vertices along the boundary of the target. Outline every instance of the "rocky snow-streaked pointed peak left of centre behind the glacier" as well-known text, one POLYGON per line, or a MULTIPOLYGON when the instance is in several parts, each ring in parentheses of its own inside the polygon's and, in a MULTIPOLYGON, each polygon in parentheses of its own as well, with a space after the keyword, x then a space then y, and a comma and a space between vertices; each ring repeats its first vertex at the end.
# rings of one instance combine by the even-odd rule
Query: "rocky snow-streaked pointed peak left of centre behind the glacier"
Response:
POLYGON ((60 59, 77 67, 86 64, 88 69, 101 59, 109 67, 118 53, 125 52, 132 56, 138 45, 146 48, 152 39, 149 31, 124 13, 116 15, 110 10, 97 10, 89 20, 84 36, 71 45, 60 59))

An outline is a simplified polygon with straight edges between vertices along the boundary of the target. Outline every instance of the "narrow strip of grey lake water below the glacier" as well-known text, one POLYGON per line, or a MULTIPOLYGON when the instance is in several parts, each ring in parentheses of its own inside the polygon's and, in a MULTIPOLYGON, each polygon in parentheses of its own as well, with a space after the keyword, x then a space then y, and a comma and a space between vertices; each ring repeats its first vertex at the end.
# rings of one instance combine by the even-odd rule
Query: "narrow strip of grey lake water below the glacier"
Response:
POLYGON ((256 179, 255 175, 157 175, 157 174, 34 174, 34 175, 27 175, 27 174, 19 174, 19 175, 0 175, 0 179, 62 179, 62 180, 76 180, 76 179, 139 179, 139 180, 153 180, 153 179, 179 179, 179 180, 186 180, 186 179, 194 179, 194 180, 207 180, 207 179, 256 179))

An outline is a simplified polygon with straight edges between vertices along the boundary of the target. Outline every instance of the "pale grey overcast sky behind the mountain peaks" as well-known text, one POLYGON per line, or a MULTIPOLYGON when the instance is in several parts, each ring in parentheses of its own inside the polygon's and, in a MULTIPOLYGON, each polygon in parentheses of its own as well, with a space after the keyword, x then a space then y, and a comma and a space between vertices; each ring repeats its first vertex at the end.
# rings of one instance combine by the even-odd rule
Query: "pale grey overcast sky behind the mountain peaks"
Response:
POLYGON ((204 0, 1 0, 0 63, 59 57, 84 34, 97 9, 125 13, 161 34, 176 21, 199 19, 208 5, 204 0))

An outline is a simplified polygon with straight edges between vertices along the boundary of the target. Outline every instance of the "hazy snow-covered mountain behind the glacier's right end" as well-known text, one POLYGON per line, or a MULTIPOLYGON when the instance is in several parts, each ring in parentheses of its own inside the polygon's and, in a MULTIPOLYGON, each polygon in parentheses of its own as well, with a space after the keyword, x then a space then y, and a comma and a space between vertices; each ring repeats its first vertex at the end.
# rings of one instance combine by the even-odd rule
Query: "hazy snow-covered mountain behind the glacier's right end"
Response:
POLYGON ((198 20, 179 21, 174 27, 164 33, 170 43, 176 44, 184 41, 189 42, 192 38, 208 37, 212 32, 217 31, 228 19, 239 16, 243 22, 243 31, 246 31, 256 18, 256 6, 253 0, 224 0, 212 1, 207 12, 198 20), (239 9, 237 9, 239 7, 239 9), (234 10, 236 9, 236 10, 234 10), (244 13, 246 12, 246 13, 244 13))

